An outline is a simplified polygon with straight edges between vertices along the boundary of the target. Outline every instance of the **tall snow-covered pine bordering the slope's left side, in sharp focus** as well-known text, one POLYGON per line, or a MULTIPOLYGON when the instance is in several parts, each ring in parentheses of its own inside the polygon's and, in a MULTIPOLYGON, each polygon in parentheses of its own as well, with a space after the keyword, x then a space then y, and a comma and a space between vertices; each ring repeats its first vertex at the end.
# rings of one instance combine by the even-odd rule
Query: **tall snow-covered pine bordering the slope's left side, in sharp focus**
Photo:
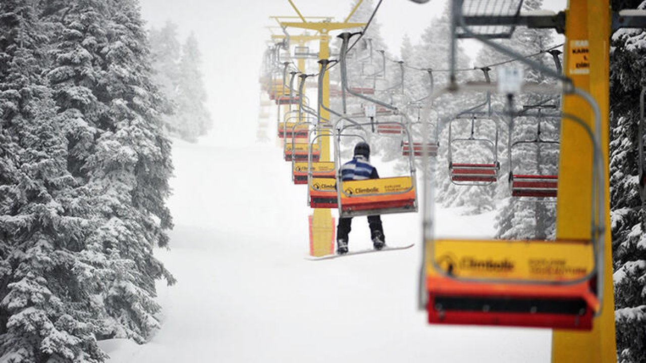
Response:
POLYGON ((104 282, 105 309, 113 334, 143 342, 158 327, 154 281, 171 274, 152 254, 166 246, 172 228, 165 205, 172 173, 171 143, 163 132, 163 98, 151 79, 147 36, 133 0, 112 0, 107 44, 99 57, 105 72, 105 126, 86 168, 90 195, 100 207, 103 242, 118 272, 104 282))

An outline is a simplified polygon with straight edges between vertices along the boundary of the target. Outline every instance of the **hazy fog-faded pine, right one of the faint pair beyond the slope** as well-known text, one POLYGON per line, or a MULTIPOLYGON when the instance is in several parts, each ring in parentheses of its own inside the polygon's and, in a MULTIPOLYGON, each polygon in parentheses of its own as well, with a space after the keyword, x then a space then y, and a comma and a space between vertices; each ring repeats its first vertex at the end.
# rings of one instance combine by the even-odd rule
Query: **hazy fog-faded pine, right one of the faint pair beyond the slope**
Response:
POLYGON ((191 33, 182 46, 182 57, 178 65, 178 80, 176 98, 177 112, 171 116, 174 129, 187 141, 196 141, 205 135, 213 120, 206 108, 207 94, 200 72, 201 55, 198 41, 191 33))

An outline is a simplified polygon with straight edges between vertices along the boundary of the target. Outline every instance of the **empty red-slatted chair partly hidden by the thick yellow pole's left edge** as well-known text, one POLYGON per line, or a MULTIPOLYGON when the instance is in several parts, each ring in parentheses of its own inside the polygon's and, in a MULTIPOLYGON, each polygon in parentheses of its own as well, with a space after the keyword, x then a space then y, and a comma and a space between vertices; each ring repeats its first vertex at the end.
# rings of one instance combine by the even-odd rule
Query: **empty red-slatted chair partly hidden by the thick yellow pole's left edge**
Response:
MULTIPOLYGON (((556 198, 558 192, 558 174, 545 174, 538 171, 534 174, 516 174, 514 172, 513 150, 517 145, 556 145, 557 140, 543 140, 541 138, 541 110, 539 109, 539 121, 536 130, 536 138, 533 140, 514 141, 509 147, 509 183, 512 189, 512 196, 515 197, 535 197, 535 198, 556 198)), ((510 130, 511 139, 511 130, 510 130)))

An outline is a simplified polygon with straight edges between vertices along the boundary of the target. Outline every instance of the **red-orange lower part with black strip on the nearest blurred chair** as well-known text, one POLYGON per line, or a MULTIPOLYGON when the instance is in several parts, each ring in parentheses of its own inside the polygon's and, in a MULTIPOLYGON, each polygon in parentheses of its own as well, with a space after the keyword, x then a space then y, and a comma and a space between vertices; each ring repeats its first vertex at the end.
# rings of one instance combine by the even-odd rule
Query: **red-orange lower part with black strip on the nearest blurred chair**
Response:
POLYGON ((592 306, 598 303, 590 282, 487 284, 437 276, 428 279, 427 286, 426 308, 431 324, 590 330, 592 306))

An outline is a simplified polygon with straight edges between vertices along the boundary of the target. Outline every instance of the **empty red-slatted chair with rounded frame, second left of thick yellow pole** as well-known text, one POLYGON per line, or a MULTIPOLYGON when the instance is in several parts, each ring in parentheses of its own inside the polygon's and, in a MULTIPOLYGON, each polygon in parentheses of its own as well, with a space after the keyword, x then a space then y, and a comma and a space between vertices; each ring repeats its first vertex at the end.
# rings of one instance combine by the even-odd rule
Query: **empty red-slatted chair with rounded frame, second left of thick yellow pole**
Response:
POLYGON ((448 128, 448 167, 451 175, 451 182, 455 185, 490 185, 495 183, 500 170, 498 161, 498 125, 490 118, 479 117, 472 114, 470 118, 455 118, 449 122, 448 128), (471 132, 468 138, 453 138, 453 122, 468 121, 471 123, 471 132), (475 121, 492 123, 495 127, 494 139, 485 137, 475 137, 475 121), (455 141, 458 143, 474 143, 484 145, 491 152, 490 162, 473 163, 473 162, 455 162, 453 161, 453 147, 455 141))

